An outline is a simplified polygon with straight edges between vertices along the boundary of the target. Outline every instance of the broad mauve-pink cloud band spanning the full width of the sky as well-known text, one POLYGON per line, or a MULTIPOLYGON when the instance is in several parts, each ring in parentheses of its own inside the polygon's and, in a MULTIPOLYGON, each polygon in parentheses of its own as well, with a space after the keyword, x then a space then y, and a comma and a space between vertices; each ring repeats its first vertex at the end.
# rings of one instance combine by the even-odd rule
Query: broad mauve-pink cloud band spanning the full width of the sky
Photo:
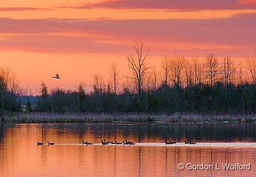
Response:
POLYGON ((0 19, 0 48, 116 54, 129 52, 127 41, 136 40, 145 42, 155 54, 207 52, 216 45, 215 50, 244 55, 256 45, 255 17, 256 14, 211 20, 0 19), (179 47, 173 45, 175 42, 179 47), (210 47, 202 49, 199 45, 210 47))

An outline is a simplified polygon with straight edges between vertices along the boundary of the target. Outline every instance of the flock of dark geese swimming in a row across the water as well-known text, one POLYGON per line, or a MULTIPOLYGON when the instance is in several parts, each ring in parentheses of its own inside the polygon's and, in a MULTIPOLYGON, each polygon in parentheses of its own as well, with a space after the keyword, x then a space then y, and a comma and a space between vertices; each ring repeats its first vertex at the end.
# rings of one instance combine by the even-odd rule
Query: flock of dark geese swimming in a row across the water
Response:
MULTIPOLYGON (((55 145, 55 143, 50 143, 49 141, 47 141, 48 146, 51 145, 55 145)), ((189 145, 195 145, 196 143, 192 143, 191 141, 184 141, 185 144, 189 144, 189 145)), ((37 146, 43 145, 44 143, 41 143, 39 141, 37 141, 37 146)), ((82 144, 83 145, 93 145, 93 143, 89 143, 88 141, 84 141, 82 140, 82 144)), ((135 145, 135 143, 133 143, 132 141, 127 141, 126 139, 122 142, 122 143, 118 143, 117 141, 113 142, 113 141, 106 141, 106 139, 101 140, 101 144, 102 146, 104 145, 135 145)), ((167 141, 165 140, 165 144, 166 145, 172 145, 172 144, 176 144, 176 142, 172 142, 172 141, 167 141)))

